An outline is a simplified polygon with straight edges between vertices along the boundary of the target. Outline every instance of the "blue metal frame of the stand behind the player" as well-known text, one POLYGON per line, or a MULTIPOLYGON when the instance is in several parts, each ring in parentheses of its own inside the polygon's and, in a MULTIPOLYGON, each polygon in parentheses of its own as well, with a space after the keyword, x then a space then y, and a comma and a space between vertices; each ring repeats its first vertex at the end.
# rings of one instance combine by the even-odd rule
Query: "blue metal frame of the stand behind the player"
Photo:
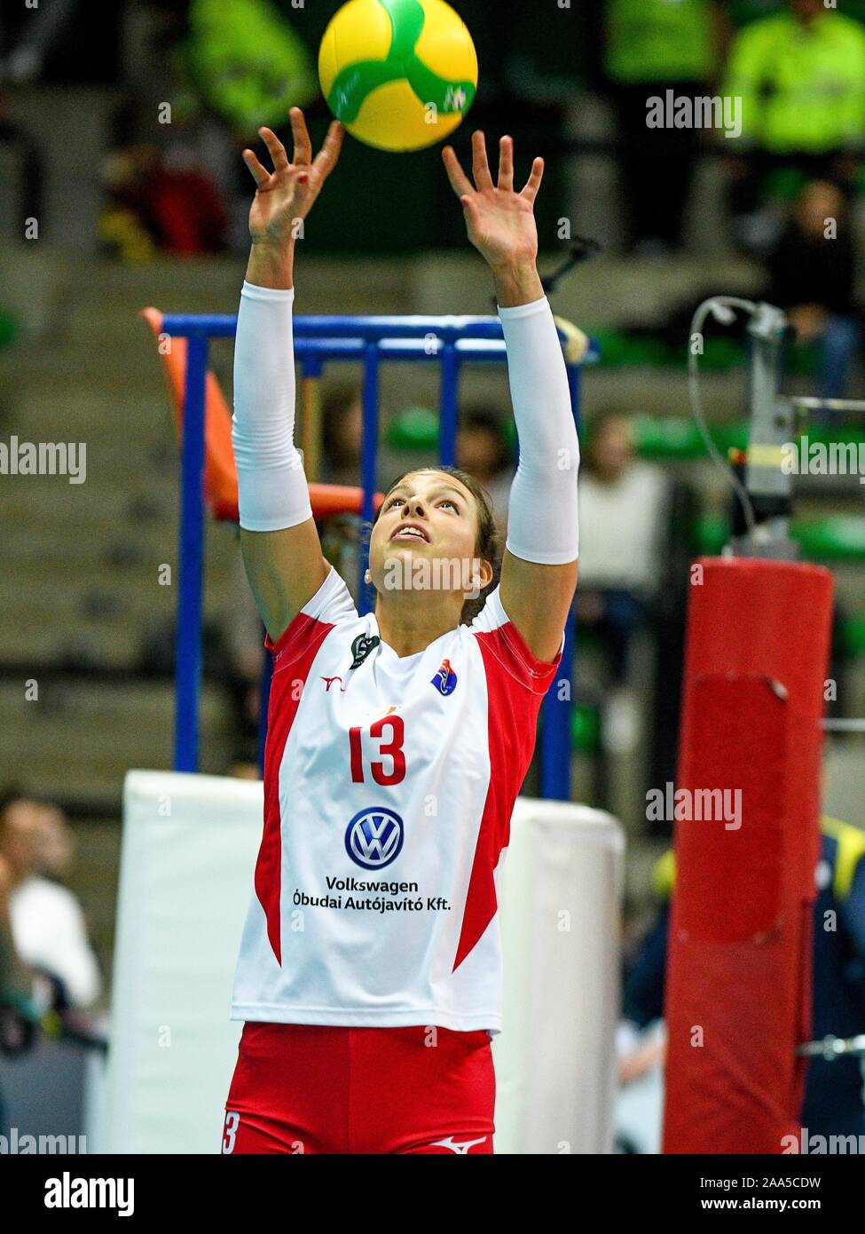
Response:
MULTIPOLYGON (((320 376, 326 362, 363 363, 362 517, 374 515, 375 464, 379 441, 379 364, 383 360, 438 362, 439 462, 453 464, 457 444, 457 399, 464 362, 502 363, 505 341, 499 317, 323 317, 294 318, 295 359, 302 376, 320 376)), ((196 771, 199 765, 199 695, 201 689, 201 600, 204 568, 205 385, 211 338, 233 338, 237 317, 167 313, 164 334, 186 338, 186 383, 180 450, 180 544, 178 626, 175 642, 174 769, 196 771)), ((564 341, 564 336, 563 336, 564 341)), ((589 359, 595 358, 590 350, 589 359)), ((574 418, 580 423, 580 365, 565 362, 574 418)), ((366 611, 363 582, 368 565, 364 545, 359 595, 366 611)), ((574 652, 574 615, 565 629, 561 670, 544 698, 542 711, 540 793, 570 796, 570 674, 574 652), (566 680, 561 691, 559 682, 566 680)))

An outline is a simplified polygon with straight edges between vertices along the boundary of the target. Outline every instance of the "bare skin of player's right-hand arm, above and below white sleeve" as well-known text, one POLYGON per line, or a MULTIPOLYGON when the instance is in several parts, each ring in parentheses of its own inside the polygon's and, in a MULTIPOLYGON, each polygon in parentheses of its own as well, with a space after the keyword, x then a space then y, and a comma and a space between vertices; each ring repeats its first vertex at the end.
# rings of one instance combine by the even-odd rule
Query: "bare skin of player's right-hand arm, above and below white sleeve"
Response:
MULTIPOLYGON (((506 136, 500 141, 495 184, 481 132, 473 133, 471 149, 474 184, 453 147, 447 146, 442 152, 448 178, 465 211, 469 239, 492 270, 502 308, 538 301, 544 290, 537 269, 534 199, 543 178, 543 159, 534 159, 526 185, 517 191, 513 188, 513 138, 506 136)), ((558 462, 555 457, 549 459, 550 479, 558 462)), ((552 489, 550 484, 550 500, 554 496, 552 489)), ((540 660, 553 660, 559 650, 576 576, 576 559, 566 564, 543 565, 526 561, 505 549, 501 601, 529 649, 540 660)))

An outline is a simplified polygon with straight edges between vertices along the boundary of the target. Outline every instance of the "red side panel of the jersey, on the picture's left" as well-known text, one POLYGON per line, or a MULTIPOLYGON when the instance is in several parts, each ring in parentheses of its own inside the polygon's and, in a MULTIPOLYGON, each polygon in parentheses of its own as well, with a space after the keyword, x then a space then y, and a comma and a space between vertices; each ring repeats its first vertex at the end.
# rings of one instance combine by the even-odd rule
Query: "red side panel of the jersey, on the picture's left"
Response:
POLYGON ((332 629, 332 623, 317 621, 306 613, 296 613, 276 643, 271 643, 269 637, 264 640, 268 650, 274 653, 274 675, 268 705, 268 738, 264 744, 264 828, 255 861, 255 895, 264 909, 270 946, 280 965, 283 963, 279 913, 283 892, 283 816, 279 808, 279 769, 283 765, 285 745, 310 668, 323 639, 332 629), (286 671, 288 669, 291 671, 286 671))

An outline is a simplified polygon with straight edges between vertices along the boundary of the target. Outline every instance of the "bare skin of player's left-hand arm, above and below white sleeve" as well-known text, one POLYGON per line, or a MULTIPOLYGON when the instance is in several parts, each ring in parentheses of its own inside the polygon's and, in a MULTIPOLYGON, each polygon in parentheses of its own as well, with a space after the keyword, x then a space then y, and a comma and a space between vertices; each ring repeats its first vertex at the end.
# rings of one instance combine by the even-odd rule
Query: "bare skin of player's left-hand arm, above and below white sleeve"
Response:
MULTIPOLYGON (((273 170, 246 149, 243 160, 255 180, 255 197, 249 210, 252 249, 247 283, 258 288, 289 290, 294 286, 294 257, 297 221, 306 218, 325 181, 333 170, 344 130, 334 121, 321 151, 312 157, 312 143, 300 107, 292 107, 292 159, 269 128, 259 133, 268 148, 273 170)), ((243 520, 242 520, 243 522, 243 520)), ((275 531, 241 529, 243 561, 262 619, 271 639, 279 638, 304 605, 325 581, 329 565, 322 557, 312 517, 275 531)))

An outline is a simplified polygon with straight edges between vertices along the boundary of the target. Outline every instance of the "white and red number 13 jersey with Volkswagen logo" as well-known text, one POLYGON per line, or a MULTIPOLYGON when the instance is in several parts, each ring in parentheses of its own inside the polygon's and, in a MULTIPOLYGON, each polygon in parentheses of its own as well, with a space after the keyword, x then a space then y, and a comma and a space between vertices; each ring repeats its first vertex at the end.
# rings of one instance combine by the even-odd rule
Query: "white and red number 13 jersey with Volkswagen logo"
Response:
POLYGON ((499 876, 564 649, 496 587, 397 656, 331 569, 276 644, 232 1019, 501 1032, 499 876))

